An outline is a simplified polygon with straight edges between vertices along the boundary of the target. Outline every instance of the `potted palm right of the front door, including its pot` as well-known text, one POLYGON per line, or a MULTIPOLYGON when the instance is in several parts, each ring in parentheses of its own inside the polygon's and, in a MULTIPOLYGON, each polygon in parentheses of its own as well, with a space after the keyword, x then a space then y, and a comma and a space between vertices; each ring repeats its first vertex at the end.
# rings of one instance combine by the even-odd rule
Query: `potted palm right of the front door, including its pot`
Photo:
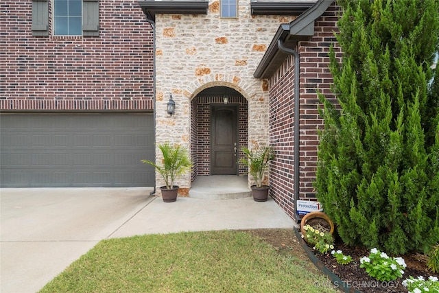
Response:
POLYGON ((246 156, 240 159, 240 163, 248 167, 248 173, 253 177, 255 185, 251 186, 254 201, 265 202, 268 198, 270 186, 263 185, 265 170, 269 167, 270 161, 274 159, 274 150, 268 145, 249 150, 244 147, 241 151, 246 156))

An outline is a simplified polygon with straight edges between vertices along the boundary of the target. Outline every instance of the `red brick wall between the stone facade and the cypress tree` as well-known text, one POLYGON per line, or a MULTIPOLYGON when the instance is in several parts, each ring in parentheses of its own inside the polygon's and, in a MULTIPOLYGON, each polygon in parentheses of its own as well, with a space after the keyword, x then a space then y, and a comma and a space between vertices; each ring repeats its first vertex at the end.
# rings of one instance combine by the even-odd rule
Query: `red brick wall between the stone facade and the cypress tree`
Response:
MULTIPOLYGON (((337 31, 339 8, 331 5, 315 23, 315 35, 309 42, 300 42, 300 198, 316 197, 313 181, 318 161, 318 130, 323 119, 317 91, 327 98, 335 97, 329 71, 329 47, 335 46, 341 58, 333 32, 337 31)), ((270 143, 276 148, 276 159, 270 168, 271 195, 293 218, 294 207, 294 56, 289 56, 270 80, 270 143)))

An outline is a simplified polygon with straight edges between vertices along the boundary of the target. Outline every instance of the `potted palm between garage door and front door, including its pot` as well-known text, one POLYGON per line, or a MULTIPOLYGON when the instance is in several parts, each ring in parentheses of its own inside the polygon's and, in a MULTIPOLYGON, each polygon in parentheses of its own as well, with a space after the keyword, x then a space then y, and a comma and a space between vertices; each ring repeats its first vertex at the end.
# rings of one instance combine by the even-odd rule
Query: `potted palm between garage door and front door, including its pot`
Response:
POLYGON ((161 143, 157 145, 163 154, 161 164, 152 161, 142 160, 142 163, 150 164, 156 168, 165 180, 165 186, 160 187, 164 202, 175 202, 178 195, 178 185, 174 185, 178 176, 184 174, 191 169, 192 163, 189 158, 189 152, 181 145, 171 145, 169 143, 161 143))

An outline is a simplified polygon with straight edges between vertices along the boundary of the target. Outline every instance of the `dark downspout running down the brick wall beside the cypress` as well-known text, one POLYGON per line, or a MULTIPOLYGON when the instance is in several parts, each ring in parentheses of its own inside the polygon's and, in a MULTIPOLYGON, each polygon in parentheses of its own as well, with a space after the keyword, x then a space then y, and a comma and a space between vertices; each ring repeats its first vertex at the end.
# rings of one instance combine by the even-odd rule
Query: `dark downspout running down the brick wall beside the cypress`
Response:
POLYGON ((300 222, 297 213, 300 192, 300 56, 298 51, 285 47, 282 40, 277 41, 277 47, 285 54, 294 55, 294 218, 300 222))

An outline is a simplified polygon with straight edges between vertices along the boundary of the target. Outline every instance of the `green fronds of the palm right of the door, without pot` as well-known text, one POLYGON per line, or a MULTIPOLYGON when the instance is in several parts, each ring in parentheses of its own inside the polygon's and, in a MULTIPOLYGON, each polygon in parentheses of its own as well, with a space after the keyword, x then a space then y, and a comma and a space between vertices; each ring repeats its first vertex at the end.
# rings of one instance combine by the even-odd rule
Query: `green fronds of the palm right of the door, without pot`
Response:
POLYGON ((274 150, 267 145, 257 146, 252 150, 244 147, 241 149, 246 156, 239 160, 239 163, 248 167, 248 173, 253 177, 256 187, 262 187, 265 170, 269 167, 270 161, 274 159, 274 150))

